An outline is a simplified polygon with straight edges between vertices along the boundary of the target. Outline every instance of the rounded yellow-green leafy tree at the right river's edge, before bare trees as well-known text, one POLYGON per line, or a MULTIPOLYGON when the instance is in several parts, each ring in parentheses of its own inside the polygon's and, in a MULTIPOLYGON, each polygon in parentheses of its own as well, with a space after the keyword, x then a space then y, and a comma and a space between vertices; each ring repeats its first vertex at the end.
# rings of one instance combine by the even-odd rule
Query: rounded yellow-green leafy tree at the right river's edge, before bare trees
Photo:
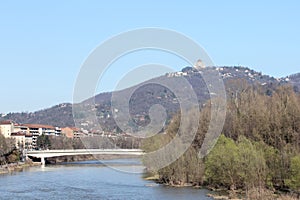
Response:
POLYGON ((205 161, 210 184, 235 189, 265 186, 267 167, 264 153, 254 142, 241 136, 237 142, 221 135, 205 161))

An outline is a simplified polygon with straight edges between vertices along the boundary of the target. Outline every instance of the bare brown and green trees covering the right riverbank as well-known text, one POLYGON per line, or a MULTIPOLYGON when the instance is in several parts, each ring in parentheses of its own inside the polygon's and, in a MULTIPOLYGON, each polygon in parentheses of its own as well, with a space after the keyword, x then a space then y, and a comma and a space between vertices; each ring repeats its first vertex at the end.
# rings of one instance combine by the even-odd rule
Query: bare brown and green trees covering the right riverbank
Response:
MULTIPOLYGON (((227 89, 226 121, 210 153, 198 157, 210 121, 208 102, 201 108, 198 131, 189 149, 169 166, 149 174, 161 184, 222 190, 230 198, 299 199, 299 95, 289 86, 266 90, 245 81, 227 84, 236 87, 226 87, 231 88, 227 89)), ((179 126, 180 114, 172 119, 166 134, 146 139, 142 148, 152 152, 165 146, 179 126)))

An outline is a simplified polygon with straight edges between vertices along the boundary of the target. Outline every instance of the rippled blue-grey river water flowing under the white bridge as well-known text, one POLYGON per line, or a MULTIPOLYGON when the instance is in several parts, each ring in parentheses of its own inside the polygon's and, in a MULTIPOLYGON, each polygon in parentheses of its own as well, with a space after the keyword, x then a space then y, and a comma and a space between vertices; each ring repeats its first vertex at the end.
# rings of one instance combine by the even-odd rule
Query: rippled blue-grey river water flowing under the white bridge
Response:
POLYGON ((0 199, 211 199, 207 190, 172 188, 142 178, 137 159, 32 167, 0 176, 0 199))

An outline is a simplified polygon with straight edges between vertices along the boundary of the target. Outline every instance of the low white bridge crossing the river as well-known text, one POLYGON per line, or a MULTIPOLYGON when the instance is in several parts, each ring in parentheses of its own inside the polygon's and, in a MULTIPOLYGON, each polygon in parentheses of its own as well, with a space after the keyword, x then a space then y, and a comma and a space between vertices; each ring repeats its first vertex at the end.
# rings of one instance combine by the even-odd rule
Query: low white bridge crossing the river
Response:
POLYGON ((45 159, 60 156, 77 156, 77 155, 144 155, 141 149, 69 149, 69 150, 44 150, 28 151, 25 153, 26 158, 40 158, 41 164, 45 165, 45 159))

